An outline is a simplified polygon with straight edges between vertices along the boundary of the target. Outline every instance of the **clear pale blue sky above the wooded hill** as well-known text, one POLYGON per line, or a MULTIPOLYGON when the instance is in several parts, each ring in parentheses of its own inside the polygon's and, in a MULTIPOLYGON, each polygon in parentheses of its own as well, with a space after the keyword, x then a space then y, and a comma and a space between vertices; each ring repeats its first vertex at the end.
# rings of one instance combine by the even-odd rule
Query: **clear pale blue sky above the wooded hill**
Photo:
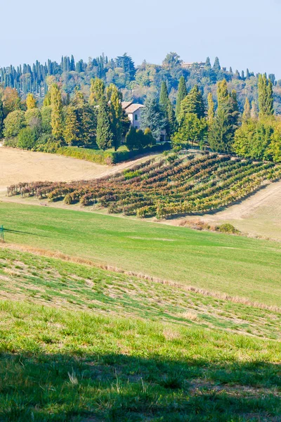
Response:
POLYGON ((74 55, 128 53, 162 63, 169 51, 183 61, 281 78, 281 0, 13 0, 1 2, 0 66, 44 63, 74 55))

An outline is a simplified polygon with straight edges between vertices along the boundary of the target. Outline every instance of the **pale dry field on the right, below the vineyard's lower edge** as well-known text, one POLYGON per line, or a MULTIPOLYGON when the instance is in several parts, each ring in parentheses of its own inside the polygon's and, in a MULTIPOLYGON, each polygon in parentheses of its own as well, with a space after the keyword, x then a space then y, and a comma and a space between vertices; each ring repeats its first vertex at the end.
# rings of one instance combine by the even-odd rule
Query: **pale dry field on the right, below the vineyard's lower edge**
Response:
POLYGON ((167 220, 167 223, 179 225, 185 219, 202 220, 214 225, 230 223, 250 236, 262 236, 281 241, 281 181, 268 184, 241 203, 231 205, 216 214, 194 215, 167 220))

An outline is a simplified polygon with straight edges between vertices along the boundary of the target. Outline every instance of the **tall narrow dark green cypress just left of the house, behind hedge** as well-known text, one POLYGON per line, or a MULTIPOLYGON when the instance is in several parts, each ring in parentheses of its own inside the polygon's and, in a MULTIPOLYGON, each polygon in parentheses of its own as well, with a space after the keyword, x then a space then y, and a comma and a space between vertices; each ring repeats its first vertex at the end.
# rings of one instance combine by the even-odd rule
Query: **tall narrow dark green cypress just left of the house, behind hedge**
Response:
POLYGON ((107 105, 107 99, 103 95, 98 104, 98 126, 96 142, 98 148, 105 151, 112 146, 113 134, 110 123, 110 110, 107 105))

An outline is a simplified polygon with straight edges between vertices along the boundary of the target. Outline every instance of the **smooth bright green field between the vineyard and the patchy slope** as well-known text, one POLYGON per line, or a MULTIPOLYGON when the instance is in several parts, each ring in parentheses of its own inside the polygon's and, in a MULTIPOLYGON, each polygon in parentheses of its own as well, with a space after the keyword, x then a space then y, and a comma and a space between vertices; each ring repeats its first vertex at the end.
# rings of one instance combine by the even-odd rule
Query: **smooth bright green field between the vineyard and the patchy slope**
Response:
POLYGON ((280 243, 16 203, 0 215, 7 242, 281 305, 280 243))

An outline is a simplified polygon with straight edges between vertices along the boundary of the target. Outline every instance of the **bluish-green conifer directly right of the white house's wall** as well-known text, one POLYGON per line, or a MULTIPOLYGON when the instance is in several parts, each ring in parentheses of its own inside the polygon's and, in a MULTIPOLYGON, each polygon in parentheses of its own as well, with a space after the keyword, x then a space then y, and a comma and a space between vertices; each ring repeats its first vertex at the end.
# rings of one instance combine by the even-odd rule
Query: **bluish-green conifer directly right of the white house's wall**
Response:
POLYGON ((144 108, 141 112, 141 129, 150 128, 153 138, 157 141, 161 138, 162 130, 166 127, 166 118, 162 107, 159 106, 155 96, 149 95, 145 99, 144 108))

